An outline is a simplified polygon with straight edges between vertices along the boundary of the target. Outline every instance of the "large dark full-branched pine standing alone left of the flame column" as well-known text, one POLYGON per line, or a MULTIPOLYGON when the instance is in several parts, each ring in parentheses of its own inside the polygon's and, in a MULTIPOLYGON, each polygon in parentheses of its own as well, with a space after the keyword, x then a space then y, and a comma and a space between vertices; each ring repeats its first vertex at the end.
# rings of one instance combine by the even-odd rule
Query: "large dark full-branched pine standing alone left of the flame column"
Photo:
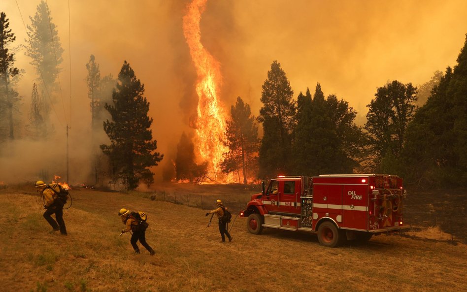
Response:
POLYGON ((123 182, 127 190, 135 189, 140 180, 150 181, 154 174, 149 167, 158 165, 164 157, 155 152, 157 141, 152 140, 149 129, 153 120, 147 115, 149 102, 143 94, 144 85, 125 61, 112 93, 113 104, 105 104, 112 117, 112 121, 104 122, 111 144, 100 148, 109 157, 114 179, 123 182))

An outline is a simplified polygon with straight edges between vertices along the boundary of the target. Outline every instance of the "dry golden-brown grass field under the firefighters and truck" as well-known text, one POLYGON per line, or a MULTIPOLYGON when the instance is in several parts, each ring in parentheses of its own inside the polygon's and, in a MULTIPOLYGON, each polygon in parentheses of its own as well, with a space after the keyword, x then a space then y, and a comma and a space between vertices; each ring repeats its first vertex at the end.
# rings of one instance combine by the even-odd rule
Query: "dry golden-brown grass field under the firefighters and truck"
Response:
POLYGON ((0 190, 2 291, 467 291, 467 246, 450 244, 437 227, 333 249, 305 233, 253 235, 237 218, 233 242, 219 243, 217 223, 207 227, 200 208, 138 194, 71 194, 68 236, 61 236, 49 232, 33 187, 0 190), (148 214, 146 239, 155 256, 144 249, 134 255, 130 234, 119 236, 122 207, 148 214))

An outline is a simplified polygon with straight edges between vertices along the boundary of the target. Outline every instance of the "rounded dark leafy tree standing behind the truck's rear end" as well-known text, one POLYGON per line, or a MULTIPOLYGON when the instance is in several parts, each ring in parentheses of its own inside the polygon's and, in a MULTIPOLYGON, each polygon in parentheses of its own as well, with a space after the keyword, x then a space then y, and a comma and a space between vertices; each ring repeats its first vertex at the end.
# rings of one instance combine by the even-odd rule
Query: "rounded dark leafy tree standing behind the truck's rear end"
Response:
POLYGON ((367 105, 365 129, 369 135, 370 171, 386 172, 388 163, 394 167, 400 163, 405 130, 416 109, 416 94, 417 89, 411 83, 394 80, 379 87, 375 98, 367 105), (384 167, 383 159, 386 159, 384 167))

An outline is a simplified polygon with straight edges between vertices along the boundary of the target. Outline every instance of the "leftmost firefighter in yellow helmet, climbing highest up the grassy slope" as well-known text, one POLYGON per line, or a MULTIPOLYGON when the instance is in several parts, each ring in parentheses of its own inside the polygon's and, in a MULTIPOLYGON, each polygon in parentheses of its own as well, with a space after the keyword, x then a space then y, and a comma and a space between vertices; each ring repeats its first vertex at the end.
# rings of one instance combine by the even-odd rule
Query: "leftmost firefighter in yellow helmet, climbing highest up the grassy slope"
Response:
POLYGON ((63 221, 63 206, 66 201, 59 198, 56 194, 60 193, 60 187, 56 183, 46 185, 43 181, 37 181, 35 183, 37 191, 40 192, 40 195, 44 199, 44 218, 52 226, 52 231, 59 231, 62 235, 67 235, 67 227, 65 227, 65 221, 63 221), (54 190, 56 192, 54 192, 54 190), (55 221, 52 218, 52 214, 55 213, 55 221))

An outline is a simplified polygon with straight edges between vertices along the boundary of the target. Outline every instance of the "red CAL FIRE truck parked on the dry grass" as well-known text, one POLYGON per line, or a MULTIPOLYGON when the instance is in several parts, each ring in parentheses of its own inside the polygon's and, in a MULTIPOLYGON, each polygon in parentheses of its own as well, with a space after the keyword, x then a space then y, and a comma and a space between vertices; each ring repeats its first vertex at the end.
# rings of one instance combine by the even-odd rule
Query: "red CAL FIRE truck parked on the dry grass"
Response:
POLYGON ((387 174, 279 176, 263 181, 240 217, 248 230, 264 227, 316 233, 321 244, 366 241, 373 234, 404 227, 402 178, 387 174))

